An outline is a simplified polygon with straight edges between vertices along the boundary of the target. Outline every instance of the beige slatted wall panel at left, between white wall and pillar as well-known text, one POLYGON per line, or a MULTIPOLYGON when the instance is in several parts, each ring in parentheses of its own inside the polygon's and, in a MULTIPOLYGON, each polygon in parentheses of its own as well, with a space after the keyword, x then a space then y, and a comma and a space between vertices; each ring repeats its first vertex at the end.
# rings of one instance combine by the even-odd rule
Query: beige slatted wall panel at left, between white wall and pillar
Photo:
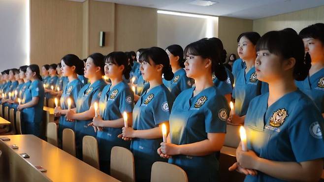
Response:
POLYGON ((82 55, 82 3, 30 0, 31 64, 58 63, 82 55))

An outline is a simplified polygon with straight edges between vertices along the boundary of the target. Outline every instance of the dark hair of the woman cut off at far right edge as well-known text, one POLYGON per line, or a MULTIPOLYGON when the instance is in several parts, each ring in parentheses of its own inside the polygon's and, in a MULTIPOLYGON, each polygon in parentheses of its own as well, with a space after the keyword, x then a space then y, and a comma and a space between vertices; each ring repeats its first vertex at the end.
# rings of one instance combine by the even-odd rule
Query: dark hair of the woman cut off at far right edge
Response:
POLYGON ((317 23, 310 25, 299 32, 301 38, 315 38, 319 39, 324 45, 324 24, 317 23))

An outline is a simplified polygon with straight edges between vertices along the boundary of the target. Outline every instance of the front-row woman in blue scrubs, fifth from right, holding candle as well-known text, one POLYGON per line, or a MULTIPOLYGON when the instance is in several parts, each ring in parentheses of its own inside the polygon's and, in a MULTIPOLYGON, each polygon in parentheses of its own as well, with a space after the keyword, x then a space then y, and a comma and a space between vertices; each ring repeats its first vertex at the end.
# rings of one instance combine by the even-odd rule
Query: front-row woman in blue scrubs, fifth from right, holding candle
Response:
POLYGON ((86 135, 96 137, 93 127, 88 126, 95 117, 94 103, 99 102, 101 91, 106 86, 102 80, 104 75, 104 56, 100 53, 92 54, 87 59, 84 76, 90 83, 82 87, 75 100, 76 108, 66 113, 68 121, 75 121, 75 144, 77 157, 82 159, 82 139, 86 135))

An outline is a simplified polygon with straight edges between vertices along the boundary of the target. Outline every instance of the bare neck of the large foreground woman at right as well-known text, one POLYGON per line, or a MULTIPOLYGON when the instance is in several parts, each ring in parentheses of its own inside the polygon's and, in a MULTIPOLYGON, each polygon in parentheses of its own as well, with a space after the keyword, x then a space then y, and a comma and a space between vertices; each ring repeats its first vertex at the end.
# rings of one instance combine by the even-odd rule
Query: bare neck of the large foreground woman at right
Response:
POLYGON ((281 80, 269 82, 268 106, 276 102, 278 99, 280 99, 287 93, 296 90, 297 87, 295 86, 292 76, 283 77, 281 80))

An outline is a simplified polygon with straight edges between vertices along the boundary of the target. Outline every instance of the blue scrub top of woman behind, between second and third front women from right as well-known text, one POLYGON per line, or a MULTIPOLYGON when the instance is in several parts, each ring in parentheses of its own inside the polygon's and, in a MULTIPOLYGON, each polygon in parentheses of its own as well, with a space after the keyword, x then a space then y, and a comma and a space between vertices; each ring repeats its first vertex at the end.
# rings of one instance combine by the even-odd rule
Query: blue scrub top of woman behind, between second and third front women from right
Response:
POLYGON ((169 89, 174 97, 177 97, 181 91, 190 89, 194 84, 194 80, 188 78, 186 71, 182 68, 174 73, 172 80, 167 81, 163 78, 162 81, 165 87, 169 89))

